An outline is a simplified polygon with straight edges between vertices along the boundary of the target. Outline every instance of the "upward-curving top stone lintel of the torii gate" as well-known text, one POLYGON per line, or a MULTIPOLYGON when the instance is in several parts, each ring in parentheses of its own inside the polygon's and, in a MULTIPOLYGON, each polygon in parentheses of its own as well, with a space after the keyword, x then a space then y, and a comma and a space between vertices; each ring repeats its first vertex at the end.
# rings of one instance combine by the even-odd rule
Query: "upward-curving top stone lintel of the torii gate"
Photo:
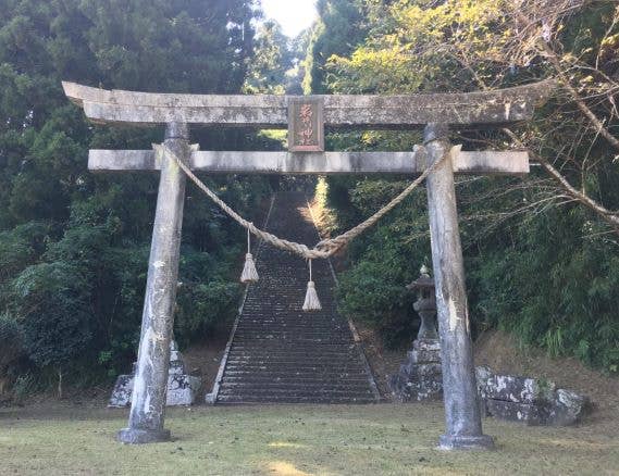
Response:
POLYGON ((498 126, 531 118, 552 93, 552 79, 481 92, 410 96, 176 95, 106 90, 63 83, 64 92, 96 123, 286 128, 293 98, 319 99, 327 127, 405 129, 430 123, 498 126))

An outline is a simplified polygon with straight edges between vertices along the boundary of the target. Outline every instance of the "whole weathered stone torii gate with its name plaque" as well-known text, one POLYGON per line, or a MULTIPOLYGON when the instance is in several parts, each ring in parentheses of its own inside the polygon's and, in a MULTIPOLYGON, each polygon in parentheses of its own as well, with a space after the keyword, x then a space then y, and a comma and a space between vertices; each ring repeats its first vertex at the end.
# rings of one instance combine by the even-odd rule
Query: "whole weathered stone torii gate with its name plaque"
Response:
MULTIPOLYGON (((553 82, 488 92, 414 96, 214 96, 104 90, 63 83, 66 96, 96 123, 165 124, 165 146, 195 171, 210 174, 419 174, 450 150, 449 128, 498 127, 528 120, 553 82), (199 151, 189 124, 286 128, 288 152, 199 151), (288 125, 289 124, 289 125, 288 125), (413 152, 324 152, 324 126, 374 129, 424 127, 413 152)), ((165 391, 178 274, 185 175, 165 152, 90 150, 94 172, 160 172, 138 364, 126 443, 164 441, 165 391)), ((491 448, 482 433, 454 174, 529 172, 527 152, 447 154, 428 176, 432 261, 442 345, 444 449, 491 448), (454 156, 451 156, 454 155, 454 156)))

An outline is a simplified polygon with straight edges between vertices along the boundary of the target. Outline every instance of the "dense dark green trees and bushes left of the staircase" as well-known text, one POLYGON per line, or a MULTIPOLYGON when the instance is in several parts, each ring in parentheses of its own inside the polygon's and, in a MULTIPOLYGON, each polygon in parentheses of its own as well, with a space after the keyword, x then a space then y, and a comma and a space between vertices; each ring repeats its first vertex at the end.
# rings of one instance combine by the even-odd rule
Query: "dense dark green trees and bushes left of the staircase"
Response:
MULTIPOLYGON (((149 148, 162 130, 92 126, 61 80, 239 92, 258 14, 252 0, 0 1, 0 366, 13 362, 12 378, 113 376, 139 336, 157 177, 96 176, 86 159, 89 148, 149 148)), ((211 185, 244 212, 269 190, 244 177, 211 185)), ((234 313, 243 234, 191 188, 185 210, 176 337, 187 343, 234 313)))

